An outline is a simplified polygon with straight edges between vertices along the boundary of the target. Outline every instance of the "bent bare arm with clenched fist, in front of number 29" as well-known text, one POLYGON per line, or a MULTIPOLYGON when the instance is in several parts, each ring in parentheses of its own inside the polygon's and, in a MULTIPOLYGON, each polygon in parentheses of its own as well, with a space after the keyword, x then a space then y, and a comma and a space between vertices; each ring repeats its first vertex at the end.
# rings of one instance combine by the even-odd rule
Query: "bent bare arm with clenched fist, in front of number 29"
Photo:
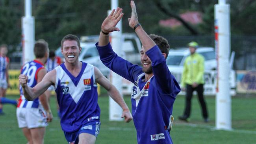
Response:
POLYGON ((19 82, 22 87, 22 91, 24 93, 24 96, 26 100, 34 100, 35 98, 38 98, 45 90, 50 87, 50 85, 54 84, 56 80, 56 70, 52 70, 48 72, 41 82, 37 83, 35 87, 31 88, 28 87, 28 76, 24 74, 20 74, 19 76, 19 82))

